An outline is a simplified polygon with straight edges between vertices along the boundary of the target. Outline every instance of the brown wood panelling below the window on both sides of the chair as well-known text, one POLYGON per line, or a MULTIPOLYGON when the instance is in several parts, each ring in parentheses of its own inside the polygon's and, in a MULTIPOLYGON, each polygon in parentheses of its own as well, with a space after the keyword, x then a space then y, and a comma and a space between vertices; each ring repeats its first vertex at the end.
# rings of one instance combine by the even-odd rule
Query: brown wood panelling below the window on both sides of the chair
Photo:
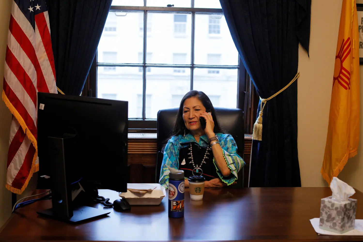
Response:
MULTIPOLYGON (((156 167, 156 134, 129 134, 127 164, 130 183, 154 183, 156 167)), ((249 162, 252 147, 252 136, 245 135, 244 161, 244 186, 248 186, 249 162)))

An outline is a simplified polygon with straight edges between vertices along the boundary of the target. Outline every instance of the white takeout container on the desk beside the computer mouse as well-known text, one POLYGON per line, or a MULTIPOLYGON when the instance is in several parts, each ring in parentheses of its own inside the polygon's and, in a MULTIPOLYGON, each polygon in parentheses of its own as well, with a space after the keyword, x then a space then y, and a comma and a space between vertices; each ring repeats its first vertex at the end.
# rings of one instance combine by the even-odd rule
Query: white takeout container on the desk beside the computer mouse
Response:
POLYGON ((165 188, 158 183, 144 184, 155 185, 156 188, 143 194, 127 190, 127 192, 120 192, 119 196, 126 199, 130 205, 159 205, 166 196, 165 188))

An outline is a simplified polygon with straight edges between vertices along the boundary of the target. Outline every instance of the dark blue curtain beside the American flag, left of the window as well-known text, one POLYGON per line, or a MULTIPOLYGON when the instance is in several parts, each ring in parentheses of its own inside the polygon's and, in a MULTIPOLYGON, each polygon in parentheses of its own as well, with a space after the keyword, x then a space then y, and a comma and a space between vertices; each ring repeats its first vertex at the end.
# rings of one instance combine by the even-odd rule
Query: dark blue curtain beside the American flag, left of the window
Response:
POLYGON ((85 84, 112 0, 49 0, 57 87, 79 95, 85 84))

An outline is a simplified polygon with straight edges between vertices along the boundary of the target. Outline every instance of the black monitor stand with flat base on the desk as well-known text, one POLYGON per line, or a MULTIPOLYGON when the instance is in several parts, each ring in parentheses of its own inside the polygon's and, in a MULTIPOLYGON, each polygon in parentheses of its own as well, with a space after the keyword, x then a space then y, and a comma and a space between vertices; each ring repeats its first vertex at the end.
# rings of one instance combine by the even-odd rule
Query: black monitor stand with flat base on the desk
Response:
MULTIPOLYGON (((50 162, 50 179, 52 190, 52 208, 37 212, 55 220, 78 223, 106 216, 109 211, 74 204, 72 189, 67 177, 67 155, 72 155, 74 138, 48 137, 48 161, 50 162), (67 152, 68 151, 68 152, 67 152)), ((72 167, 72 166, 70 166, 72 167)))

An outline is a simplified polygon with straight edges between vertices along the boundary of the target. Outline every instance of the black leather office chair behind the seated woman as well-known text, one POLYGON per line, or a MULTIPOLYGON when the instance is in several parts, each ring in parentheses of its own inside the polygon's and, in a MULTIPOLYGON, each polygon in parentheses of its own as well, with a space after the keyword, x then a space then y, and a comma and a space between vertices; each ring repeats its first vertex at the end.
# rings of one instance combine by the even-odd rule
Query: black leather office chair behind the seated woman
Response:
MULTIPOLYGON (((245 147, 244 138, 244 119, 243 111, 238 108, 219 108, 216 107, 216 115, 219 125, 222 129, 232 135, 237 144, 237 153, 243 158, 243 151, 245 147)), ((159 183, 160 169, 163 161, 162 148, 166 144, 167 140, 171 136, 172 129, 174 128, 176 114, 178 113, 178 107, 159 110, 157 121, 157 133, 158 133, 158 155, 156 158, 156 183, 159 183)), ((244 168, 238 172, 236 187, 243 187, 243 171, 244 168)))

